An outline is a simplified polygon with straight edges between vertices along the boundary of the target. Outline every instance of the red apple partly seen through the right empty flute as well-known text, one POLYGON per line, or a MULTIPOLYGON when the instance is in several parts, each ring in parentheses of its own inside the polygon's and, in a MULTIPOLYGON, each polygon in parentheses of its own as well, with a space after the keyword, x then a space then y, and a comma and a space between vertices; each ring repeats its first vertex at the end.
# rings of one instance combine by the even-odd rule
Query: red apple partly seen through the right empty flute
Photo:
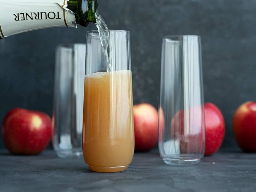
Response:
POLYGON ((204 155, 207 156, 220 148, 225 134, 225 122, 220 109, 212 103, 205 103, 204 116, 205 151, 202 108, 195 106, 180 110, 173 117, 171 134, 174 140, 180 141, 181 153, 202 153, 204 151, 204 155))

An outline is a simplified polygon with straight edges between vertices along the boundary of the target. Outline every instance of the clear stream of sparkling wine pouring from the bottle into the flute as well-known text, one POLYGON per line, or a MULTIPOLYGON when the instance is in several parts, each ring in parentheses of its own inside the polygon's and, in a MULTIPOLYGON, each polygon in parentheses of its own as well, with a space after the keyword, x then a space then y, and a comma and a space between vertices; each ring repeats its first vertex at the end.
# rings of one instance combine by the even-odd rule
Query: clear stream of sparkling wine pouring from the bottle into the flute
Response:
MULTIPOLYGON (((95 13, 95 18, 96 18, 96 27, 98 28, 98 30, 108 30, 108 27, 106 25, 105 20, 98 14, 95 13)), ((104 51, 104 55, 105 55, 105 59, 107 62, 107 71, 111 71, 111 64, 109 61, 109 32, 108 31, 100 31, 100 42, 101 45, 103 47, 103 51, 104 51)))

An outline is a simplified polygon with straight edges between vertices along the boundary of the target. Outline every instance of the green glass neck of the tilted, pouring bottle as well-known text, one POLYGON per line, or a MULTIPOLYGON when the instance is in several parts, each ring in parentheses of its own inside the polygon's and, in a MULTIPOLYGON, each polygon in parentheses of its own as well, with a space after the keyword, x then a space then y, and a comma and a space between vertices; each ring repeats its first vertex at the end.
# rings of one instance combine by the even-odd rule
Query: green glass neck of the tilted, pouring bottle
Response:
POLYGON ((91 22, 96 23, 97 0, 69 0, 67 8, 75 13, 77 24, 86 27, 91 22))

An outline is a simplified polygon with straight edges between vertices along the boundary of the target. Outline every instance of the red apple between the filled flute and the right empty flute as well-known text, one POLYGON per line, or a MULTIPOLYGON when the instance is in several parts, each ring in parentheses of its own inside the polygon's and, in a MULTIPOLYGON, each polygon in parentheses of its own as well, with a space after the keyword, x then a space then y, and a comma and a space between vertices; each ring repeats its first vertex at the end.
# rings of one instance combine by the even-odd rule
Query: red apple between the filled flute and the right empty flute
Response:
POLYGON ((135 151, 148 151, 156 145, 158 113, 147 103, 133 106, 135 151))

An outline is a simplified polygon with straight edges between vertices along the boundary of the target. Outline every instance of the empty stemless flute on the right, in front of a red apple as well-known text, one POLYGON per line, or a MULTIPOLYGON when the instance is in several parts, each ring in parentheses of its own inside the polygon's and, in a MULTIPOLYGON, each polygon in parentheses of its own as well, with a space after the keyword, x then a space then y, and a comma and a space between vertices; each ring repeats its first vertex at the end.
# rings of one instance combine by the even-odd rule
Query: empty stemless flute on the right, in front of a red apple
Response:
POLYGON ((158 146, 166 164, 196 164, 205 124, 200 36, 162 40, 158 146))

